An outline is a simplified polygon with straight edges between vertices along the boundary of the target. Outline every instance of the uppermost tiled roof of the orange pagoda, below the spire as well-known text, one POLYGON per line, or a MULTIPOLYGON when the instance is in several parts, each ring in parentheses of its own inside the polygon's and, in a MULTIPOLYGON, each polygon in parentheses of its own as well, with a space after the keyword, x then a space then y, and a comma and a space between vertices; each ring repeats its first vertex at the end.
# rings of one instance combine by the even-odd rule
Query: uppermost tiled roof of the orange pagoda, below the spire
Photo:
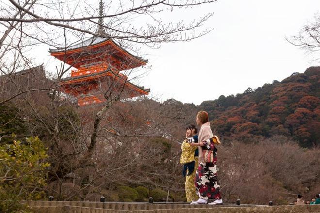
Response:
POLYGON ((131 53, 129 53, 127 50, 125 50, 124 48, 122 48, 119 44, 117 44, 117 42, 115 42, 112 38, 109 37, 100 37, 100 36, 92 36, 84 41, 80 41, 74 45, 68 46, 67 48, 65 47, 56 47, 55 49, 49 49, 49 52, 52 55, 56 55, 56 54, 64 54, 66 52, 72 51, 72 52, 81 52, 81 50, 83 48, 86 47, 94 47, 94 46, 102 46, 103 43, 107 43, 107 42, 112 42, 115 46, 117 46, 118 48, 120 48, 122 51, 125 51, 127 54, 129 54, 131 57, 134 57, 135 59, 139 60, 139 61, 143 61, 144 63, 148 62, 148 60, 143 59, 142 57, 139 56, 135 56, 131 53), (79 50, 79 51, 77 51, 79 50))

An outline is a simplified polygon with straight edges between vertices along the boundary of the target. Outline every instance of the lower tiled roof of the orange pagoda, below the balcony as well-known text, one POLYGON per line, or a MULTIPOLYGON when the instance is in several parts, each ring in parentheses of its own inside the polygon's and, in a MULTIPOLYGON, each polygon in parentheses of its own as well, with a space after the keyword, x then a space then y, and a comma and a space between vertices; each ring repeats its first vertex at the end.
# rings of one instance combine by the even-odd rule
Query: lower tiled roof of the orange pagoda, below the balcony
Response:
MULTIPOLYGON (((81 81, 92 81, 95 77, 104 76, 106 74, 110 74, 112 77, 121 79, 121 77, 126 77, 125 75, 115 72, 111 69, 111 67, 108 67, 105 71, 92 73, 88 75, 82 75, 82 76, 71 76, 61 79, 60 85, 68 85, 68 84, 80 84, 81 81), (90 80, 92 79, 92 80, 90 80)), ((147 94, 150 92, 150 89, 146 89, 143 86, 135 85, 129 81, 125 82, 125 84, 133 89, 143 91, 143 93, 147 94)))

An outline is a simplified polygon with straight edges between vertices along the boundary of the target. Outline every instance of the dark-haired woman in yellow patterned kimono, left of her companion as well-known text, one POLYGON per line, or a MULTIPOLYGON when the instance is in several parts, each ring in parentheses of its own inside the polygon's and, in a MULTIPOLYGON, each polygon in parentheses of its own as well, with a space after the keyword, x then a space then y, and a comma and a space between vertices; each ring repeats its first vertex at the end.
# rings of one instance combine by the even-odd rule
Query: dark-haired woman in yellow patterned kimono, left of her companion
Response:
POLYGON ((198 148, 190 146, 189 142, 198 142, 198 132, 194 125, 189 125, 186 128, 186 139, 181 145, 181 158, 180 163, 183 164, 183 176, 186 177, 185 189, 188 202, 197 200, 198 196, 195 188, 195 173, 197 169, 194 169, 195 165, 198 165, 198 148))

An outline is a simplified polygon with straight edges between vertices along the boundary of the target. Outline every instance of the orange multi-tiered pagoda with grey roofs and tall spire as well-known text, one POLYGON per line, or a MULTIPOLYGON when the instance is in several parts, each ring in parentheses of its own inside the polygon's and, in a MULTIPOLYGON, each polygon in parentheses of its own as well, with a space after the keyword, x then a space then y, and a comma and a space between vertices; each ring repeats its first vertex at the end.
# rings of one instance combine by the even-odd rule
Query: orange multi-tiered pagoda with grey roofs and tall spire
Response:
MULTIPOLYGON (((103 15, 100 2, 99 16, 103 15)), ((103 19, 99 19, 97 34, 105 35, 103 19)), ((108 95, 121 99, 147 95, 150 90, 128 81, 121 73, 144 66, 148 61, 130 54, 108 37, 93 36, 67 48, 50 49, 50 54, 64 61, 76 70, 60 82, 60 90, 78 100, 79 106, 98 104, 106 101, 108 95), (108 95, 106 95, 106 93, 108 95)))

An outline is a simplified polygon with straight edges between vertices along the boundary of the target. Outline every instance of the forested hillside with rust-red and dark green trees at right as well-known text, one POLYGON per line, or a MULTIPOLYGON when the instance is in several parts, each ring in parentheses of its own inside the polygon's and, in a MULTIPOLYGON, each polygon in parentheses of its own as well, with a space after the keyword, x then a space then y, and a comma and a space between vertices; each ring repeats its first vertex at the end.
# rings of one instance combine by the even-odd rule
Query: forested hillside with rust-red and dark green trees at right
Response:
POLYGON ((209 112, 212 128, 224 141, 256 141, 261 137, 284 135, 302 147, 319 146, 320 67, 293 73, 244 93, 221 95, 205 101, 201 109, 209 112))

